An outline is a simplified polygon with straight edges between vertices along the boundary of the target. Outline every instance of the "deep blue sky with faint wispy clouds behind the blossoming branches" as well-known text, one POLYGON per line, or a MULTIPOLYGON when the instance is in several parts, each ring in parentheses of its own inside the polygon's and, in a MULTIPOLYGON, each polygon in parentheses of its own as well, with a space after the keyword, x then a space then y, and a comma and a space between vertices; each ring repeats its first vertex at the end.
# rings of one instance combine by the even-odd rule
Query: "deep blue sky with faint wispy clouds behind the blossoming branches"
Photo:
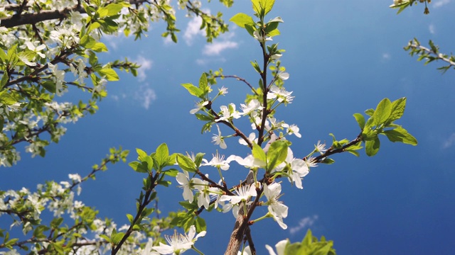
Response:
MULTIPOLYGON (((212 13, 223 11, 226 20, 238 12, 252 15, 250 1, 237 1, 230 9, 203 4, 212 13)), ((277 118, 299 125, 301 139, 291 139, 295 156, 304 157, 318 140, 329 143, 330 132, 338 140, 352 140, 360 132, 353 113, 375 108, 385 97, 407 97, 405 115, 398 124, 414 135, 419 145, 382 139, 375 157, 338 154, 333 157, 335 164, 312 169, 303 190, 284 181, 282 200, 289 206, 284 222, 289 228, 283 230, 272 220, 253 225, 259 254, 265 252, 264 244, 274 245, 287 237, 291 242, 300 241, 308 228, 318 237, 323 234, 334 240, 338 254, 452 251, 454 72, 442 75, 436 69, 441 63, 424 67, 402 47, 416 37, 424 45, 434 40, 441 52, 454 50, 453 24, 448 18, 455 13, 455 4, 451 0, 432 1, 427 16, 421 4, 398 16, 388 8, 390 4, 392 1, 277 1, 269 14, 269 18, 281 16, 284 20, 279 26, 282 35, 274 42, 287 50, 282 57, 290 74, 285 86, 296 98, 280 109, 277 118)), ((184 13, 178 16, 182 31, 176 45, 160 37, 163 24, 152 23, 149 36, 137 42, 107 38, 109 53, 102 59, 136 60, 143 65, 139 77, 122 74, 120 81, 109 83, 100 111, 68 125, 67 134, 58 145, 48 148, 45 158, 31 159, 22 152, 17 166, 0 170, 1 188, 26 186, 33 190, 45 180, 64 181, 76 172, 85 175, 109 147, 119 145, 131 150, 129 161, 136 158, 134 148, 152 152, 162 142, 171 152, 215 153, 218 148, 210 142, 211 132, 200 135, 203 123, 188 113, 195 98, 180 84, 197 84, 202 72, 219 67, 225 74, 256 84, 259 77, 250 60, 261 59, 260 49, 234 24, 229 33, 207 44, 195 29, 197 21, 184 18, 184 13)), ((230 80, 221 85, 229 87, 229 94, 220 103, 243 103, 247 87, 230 80)), ((227 143, 223 154, 242 152, 240 156, 246 156, 236 139, 227 143)), ((240 178, 238 172, 243 169, 230 171, 240 178)), ((127 164, 117 164, 98 174, 96 181, 84 183, 79 199, 100 210, 101 217, 122 225, 127 222, 125 214, 135 210, 141 179, 127 164)), ((178 209, 177 201, 183 200, 181 189, 173 186, 159 191, 161 210, 178 209)), ((265 210, 258 210, 257 217, 265 210)), ((231 213, 204 212, 203 216, 208 220, 208 234, 196 245, 205 254, 221 254, 235 219, 231 213)))

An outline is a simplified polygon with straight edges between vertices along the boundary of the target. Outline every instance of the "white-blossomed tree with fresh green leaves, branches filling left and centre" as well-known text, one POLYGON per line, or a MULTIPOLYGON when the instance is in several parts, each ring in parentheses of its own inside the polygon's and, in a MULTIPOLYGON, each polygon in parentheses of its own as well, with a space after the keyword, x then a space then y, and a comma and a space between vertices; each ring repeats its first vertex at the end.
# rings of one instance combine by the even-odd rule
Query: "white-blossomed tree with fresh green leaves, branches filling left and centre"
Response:
MULTIPOLYGON (((229 0, 221 2, 232 5, 229 0)), ((122 148, 110 149, 107 157, 85 176, 70 174, 69 181, 38 184, 36 192, 28 188, 0 191, 0 216, 10 215, 11 227, 21 227, 24 234, 23 238, 13 238, 8 229, 1 227, 0 251, 182 254, 193 249, 203 254, 196 248, 196 241, 210 234, 202 215, 206 211, 230 212, 235 217, 225 254, 256 254, 252 227, 269 221, 287 228, 288 206, 280 200, 282 186, 303 188, 302 180, 311 169, 319 164, 333 164, 334 154, 349 152, 358 156, 360 149, 365 148, 368 156, 374 156, 380 149, 380 135, 391 142, 417 145, 417 140, 395 123, 405 111, 406 98, 395 101, 384 98, 374 109, 366 110, 365 115, 353 115, 360 129, 357 137, 337 140, 331 134, 329 145, 318 142, 311 152, 293 151, 291 140, 301 137, 299 127, 275 118, 278 111, 297 99, 284 86, 291 74, 280 61, 284 50, 274 41, 284 21, 267 16, 274 4, 274 0, 252 0, 252 11, 248 10, 252 15, 237 13, 230 18, 257 43, 262 61, 251 62, 252 72, 259 79, 257 86, 242 77, 223 74, 221 69, 201 74, 197 86, 182 84, 198 101, 196 108, 190 110, 188 106, 188 114, 203 122, 203 132, 211 132, 216 126, 212 141, 217 149, 213 157, 207 157, 205 152, 171 153, 166 141, 154 152, 137 149, 137 160, 129 166, 144 175, 143 186, 137 191, 137 207, 127 215, 129 224, 122 227, 112 220, 100 219, 97 210, 75 200, 81 183, 105 171, 108 164, 126 161, 129 152, 122 148), (218 98, 228 95, 227 88, 217 88, 220 79, 236 79, 247 86, 250 94, 245 95, 244 103, 217 105, 218 98), (250 123, 251 129, 239 128, 240 121, 250 123), (228 135, 223 135, 226 132, 228 135), (228 146, 246 146, 249 153, 227 156, 218 151, 218 147, 222 150, 228 146), (209 178, 206 173, 210 168, 217 169, 218 176, 209 178), (245 169, 240 183, 227 183, 225 176, 232 168, 245 169), (166 217, 155 217, 159 212, 155 206, 157 186, 179 186, 183 209, 169 212, 166 217), (261 206, 267 207, 263 215, 256 210, 261 206), (43 220, 45 211, 52 214, 49 222, 43 220), (187 234, 175 230, 172 236, 161 236, 165 230, 175 228, 187 234)), ((395 1, 395 6, 399 4, 402 2, 395 1)), ((203 12, 198 1, 179 0, 178 7, 189 16, 200 16, 201 29, 209 42, 228 30, 221 14, 203 12)), ((177 41, 175 9, 165 0, 8 1, 0 6, 0 14, 2 166, 18 164, 16 145, 21 142, 28 143, 26 151, 33 156, 44 157, 45 147, 64 135, 65 123, 95 113, 97 103, 107 95, 107 84, 119 79, 118 71, 137 74, 139 66, 129 60, 99 62, 97 55, 108 50, 100 38, 121 31, 140 39, 149 22, 164 21, 163 36, 177 41), (56 100, 73 89, 88 92, 90 99, 77 104, 56 100)), ((283 240, 275 249, 267 245, 267 250, 270 254, 335 254, 333 242, 324 237, 318 240, 311 231, 302 242, 291 244, 283 240)))

